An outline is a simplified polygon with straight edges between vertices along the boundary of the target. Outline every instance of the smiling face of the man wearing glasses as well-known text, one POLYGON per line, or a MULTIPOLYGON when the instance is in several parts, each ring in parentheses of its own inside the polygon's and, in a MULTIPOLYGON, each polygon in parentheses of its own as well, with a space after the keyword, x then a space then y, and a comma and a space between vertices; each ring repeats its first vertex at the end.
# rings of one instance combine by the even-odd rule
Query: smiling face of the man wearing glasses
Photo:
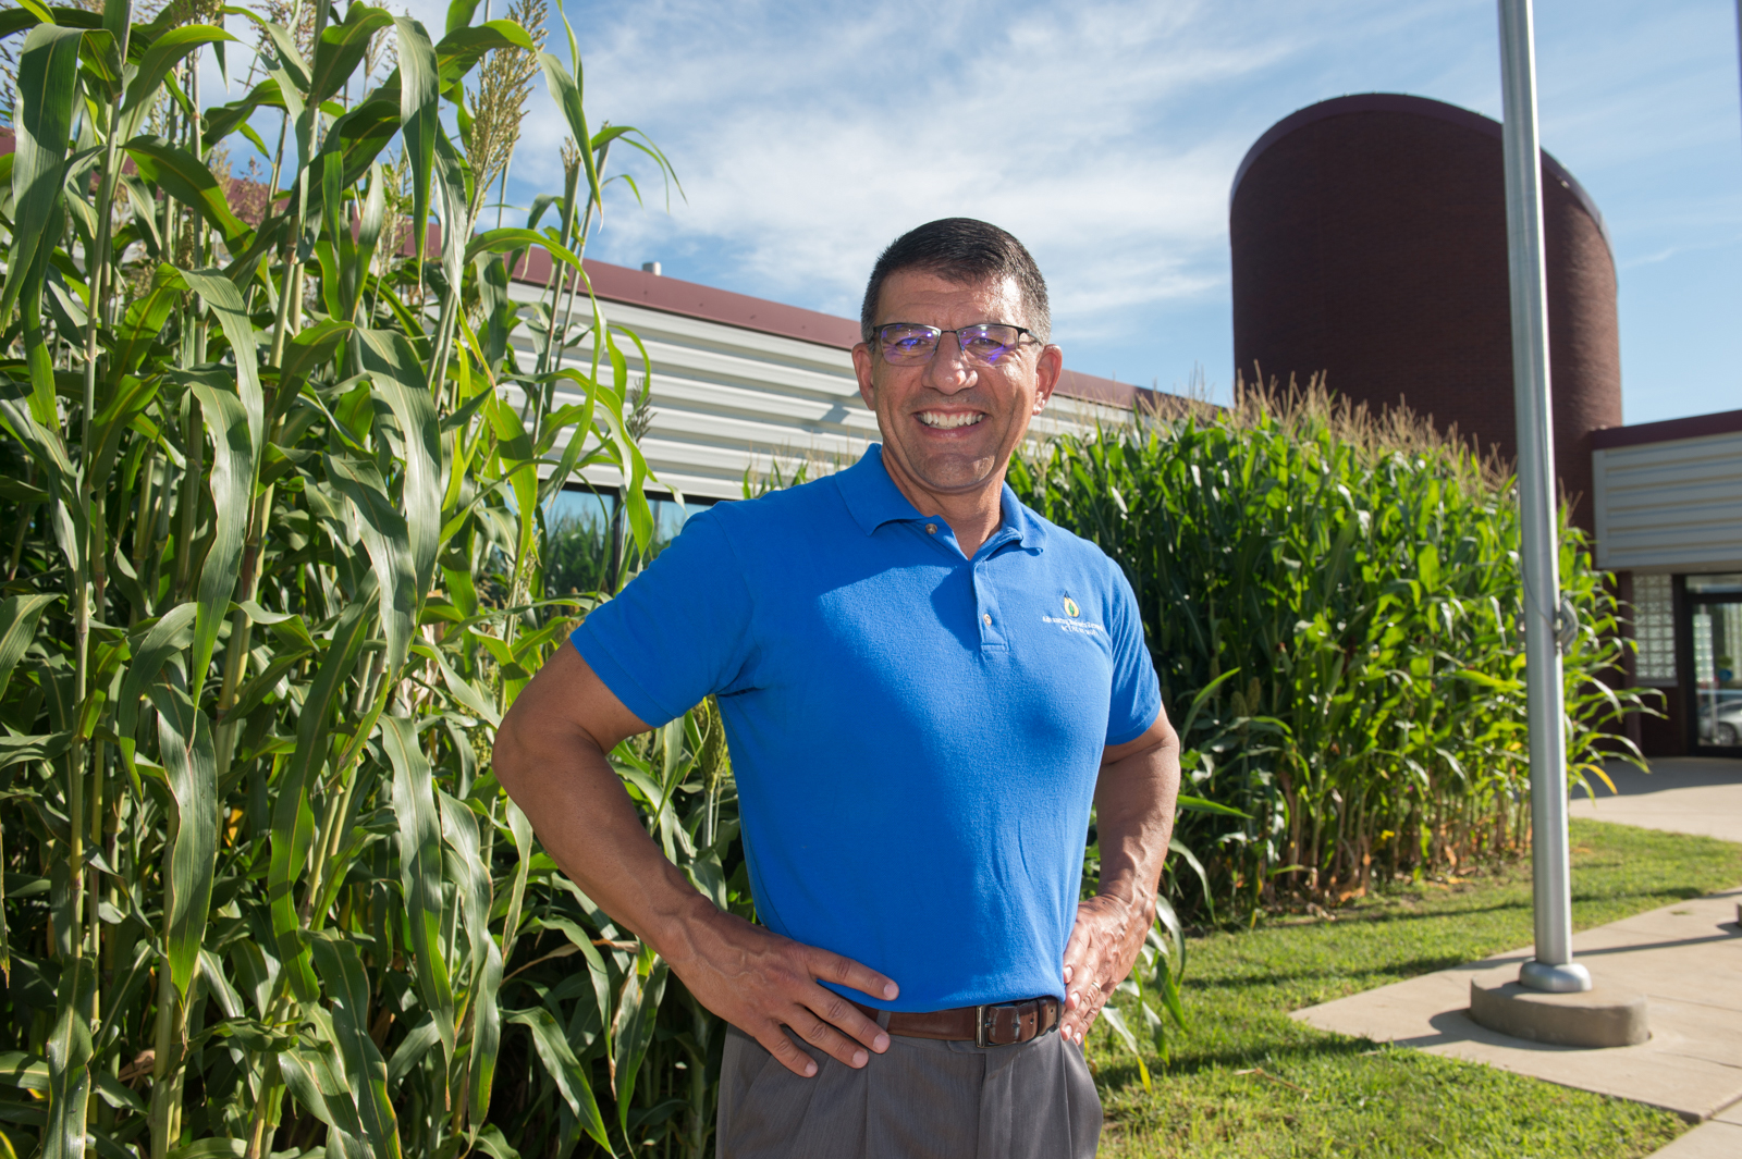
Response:
MULTIPOLYGON (((953 331, 979 322, 1026 325, 1016 278, 949 282, 928 270, 899 270, 883 282, 876 312, 885 322, 953 331)), ((944 334, 923 365, 890 365, 866 343, 854 346, 859 395, 883 432, 883 465, 909 499, 958 496, 1003 484, 1003 468, 1028 421, 1047 405, 1063 355, 1031 338, 995 365, 962 357, 944 334)))

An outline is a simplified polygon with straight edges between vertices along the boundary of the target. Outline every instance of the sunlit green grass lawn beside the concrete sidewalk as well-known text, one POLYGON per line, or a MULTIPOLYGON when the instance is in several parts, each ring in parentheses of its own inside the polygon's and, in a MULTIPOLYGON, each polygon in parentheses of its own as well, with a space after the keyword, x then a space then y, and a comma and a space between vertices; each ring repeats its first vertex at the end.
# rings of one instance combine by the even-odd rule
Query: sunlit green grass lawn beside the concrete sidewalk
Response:
MULTIPOLYGON (((1578 821, 1573 928, 1742 882, 1742 846, 1578 821)), ((1322 917, 1188 941, 1192 1030, 1150 1056, 1153 1093, 1111 1032, 1090 1037, 1101 1154, 1627 1159, 1685 1131, 1672 1114, 1289 1020, 1315 1006, 1531 941, 1529 863, 1399 886, 1322 917)), ((1120 1002, 1131 1002, 1120 995, 1120 1002)), ((1127 1011, 1141 1027, 1141 1015, 1127 1011)))

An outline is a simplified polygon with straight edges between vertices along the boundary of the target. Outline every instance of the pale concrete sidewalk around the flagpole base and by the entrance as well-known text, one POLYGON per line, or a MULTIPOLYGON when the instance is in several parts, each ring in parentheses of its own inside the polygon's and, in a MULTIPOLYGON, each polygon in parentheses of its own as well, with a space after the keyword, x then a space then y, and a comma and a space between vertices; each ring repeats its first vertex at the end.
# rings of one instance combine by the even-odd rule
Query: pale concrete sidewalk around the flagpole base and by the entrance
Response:
MULTIPOLYGON (((1742 760, 1653 760, 1651 774, 1610 766, 1573 816, 1742 842, 1742 760)), ((1517 978, 1529 948, 1294 1011, 1293 1018, 1374 1042, 1416 1046, 1700 1122, 1662 1159, 1742 1157, 1742 888, 1667 905, 1573 936, 1599 987, 1646 994, 1651 1039, 1639 1046, 1542 1046, 1470 1022, 1470 980, 1517 978)))

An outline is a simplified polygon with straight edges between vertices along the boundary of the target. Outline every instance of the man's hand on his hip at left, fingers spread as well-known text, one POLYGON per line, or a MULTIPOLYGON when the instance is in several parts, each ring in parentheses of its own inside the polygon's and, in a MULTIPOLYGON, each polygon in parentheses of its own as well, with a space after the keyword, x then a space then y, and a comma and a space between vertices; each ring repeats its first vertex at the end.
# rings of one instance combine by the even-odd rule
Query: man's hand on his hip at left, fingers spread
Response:
POLYGON ((686 922, 679 945, 665 947, 683 985, 707 1009, 744 1030, 793 1074, 810 1077, 817 1063, 786 1030, 848 1067, 864 1067, 883 1053, 888 1034, 859 1008, 820 981, 890 1001, 901 990, 859 962, 803 945, 716 910, 706 898, 686 922))

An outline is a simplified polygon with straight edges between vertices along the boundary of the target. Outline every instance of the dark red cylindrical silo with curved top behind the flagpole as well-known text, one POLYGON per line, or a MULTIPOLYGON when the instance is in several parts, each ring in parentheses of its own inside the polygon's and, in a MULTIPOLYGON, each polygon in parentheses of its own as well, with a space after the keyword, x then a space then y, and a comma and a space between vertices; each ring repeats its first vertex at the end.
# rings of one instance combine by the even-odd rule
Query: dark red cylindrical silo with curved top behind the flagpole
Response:
MULTIPOLYGON (((1622 421, 1615 259, 1596 204, 1543 153, 1556 468, 1590 529, 1590 432, 1622 421)), ((1233 179, 1235 367, 1326 372, 1514 452, 1500 124, 1397 94, 1277 122, 1233 179)))

